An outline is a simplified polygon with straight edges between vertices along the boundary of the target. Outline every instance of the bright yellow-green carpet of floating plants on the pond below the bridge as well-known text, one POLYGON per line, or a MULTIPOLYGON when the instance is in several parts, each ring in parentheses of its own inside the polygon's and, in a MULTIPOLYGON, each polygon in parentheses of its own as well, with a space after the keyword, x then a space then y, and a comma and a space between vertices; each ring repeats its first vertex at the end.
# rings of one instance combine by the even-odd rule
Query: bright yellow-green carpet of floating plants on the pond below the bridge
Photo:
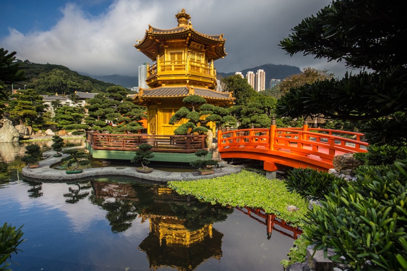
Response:
POLYGON ((304 224, 308 209, 308 201, 295 192, 288 192, 281 180, 268 179, 246 170, 212 179, 171 181, 168 186, 181 195, 193 195, 212 204, 262 208, 292 226, 304 224), (288 205, 295 205, 299 210, 288 212, 288 205))

